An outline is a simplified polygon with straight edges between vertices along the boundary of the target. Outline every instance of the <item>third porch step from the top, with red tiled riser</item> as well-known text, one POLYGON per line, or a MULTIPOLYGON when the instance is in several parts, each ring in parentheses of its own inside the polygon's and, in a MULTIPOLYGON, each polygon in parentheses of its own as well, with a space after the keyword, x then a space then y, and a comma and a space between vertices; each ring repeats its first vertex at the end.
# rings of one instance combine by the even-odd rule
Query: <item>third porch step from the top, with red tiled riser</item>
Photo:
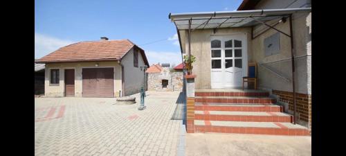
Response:
MULTIPOLYGON (((248 103, 246 103, 248 104, 248 103)), ((194 103, 194 110, 239 111, 239 112, 282 112, 280 105, 235 105, 218 103, 194 103)))

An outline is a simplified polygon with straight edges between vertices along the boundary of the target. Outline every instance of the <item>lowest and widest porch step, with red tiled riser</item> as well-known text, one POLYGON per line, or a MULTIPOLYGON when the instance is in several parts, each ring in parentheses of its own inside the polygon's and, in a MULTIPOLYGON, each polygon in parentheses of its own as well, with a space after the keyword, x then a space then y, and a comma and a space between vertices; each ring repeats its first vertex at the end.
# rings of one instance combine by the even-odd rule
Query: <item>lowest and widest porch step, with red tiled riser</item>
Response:
POLYGON ((242 133, 257 135, 309 135, 302 125, 281 122, 194 120, 195 132, 242 133))

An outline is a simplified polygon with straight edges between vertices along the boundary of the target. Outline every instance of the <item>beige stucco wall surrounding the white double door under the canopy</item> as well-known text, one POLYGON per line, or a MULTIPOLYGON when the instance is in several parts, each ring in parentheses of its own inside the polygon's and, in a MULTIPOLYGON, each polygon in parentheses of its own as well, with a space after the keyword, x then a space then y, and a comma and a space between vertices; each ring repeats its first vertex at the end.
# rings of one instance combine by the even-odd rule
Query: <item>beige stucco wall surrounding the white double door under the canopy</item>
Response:
MULTIPOLYGON (((197 75, 194 85, 196 88, 210 88, 210 42, 212 35, 236 35, 246 33, 248 38, 248 61, 252 59, 251 53, 251 28, 220 28, 216 33, 212 29, 196 30, 191 33, 191 55, 196 57, 192 64, 192 73, 197 75)), ((188 35, 185 37, 185 53, 188 53, 188 35)))

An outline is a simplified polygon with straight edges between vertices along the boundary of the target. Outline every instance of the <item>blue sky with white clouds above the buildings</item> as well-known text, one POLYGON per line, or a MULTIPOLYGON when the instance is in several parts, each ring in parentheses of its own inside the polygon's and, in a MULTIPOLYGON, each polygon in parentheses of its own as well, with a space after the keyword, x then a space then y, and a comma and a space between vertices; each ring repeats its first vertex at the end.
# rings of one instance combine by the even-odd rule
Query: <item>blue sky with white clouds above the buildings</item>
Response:
POLYGON ((129 39, 149 64, 181 63, 170 12, 233 11, 242 0, 35 0, 35 58, 82 41, 129 39))

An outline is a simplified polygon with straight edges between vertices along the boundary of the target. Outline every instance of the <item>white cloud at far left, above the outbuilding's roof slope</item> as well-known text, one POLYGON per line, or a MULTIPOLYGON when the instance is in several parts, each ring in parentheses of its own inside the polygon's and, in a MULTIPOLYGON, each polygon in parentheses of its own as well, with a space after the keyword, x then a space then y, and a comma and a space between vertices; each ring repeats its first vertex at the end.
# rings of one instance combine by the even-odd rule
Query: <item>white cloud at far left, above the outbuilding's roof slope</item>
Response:
POLYGON ((73 44, 70 40, 61 40, 56 37, 35 33, 35 58, 42 58, 62 46, 73 44))

